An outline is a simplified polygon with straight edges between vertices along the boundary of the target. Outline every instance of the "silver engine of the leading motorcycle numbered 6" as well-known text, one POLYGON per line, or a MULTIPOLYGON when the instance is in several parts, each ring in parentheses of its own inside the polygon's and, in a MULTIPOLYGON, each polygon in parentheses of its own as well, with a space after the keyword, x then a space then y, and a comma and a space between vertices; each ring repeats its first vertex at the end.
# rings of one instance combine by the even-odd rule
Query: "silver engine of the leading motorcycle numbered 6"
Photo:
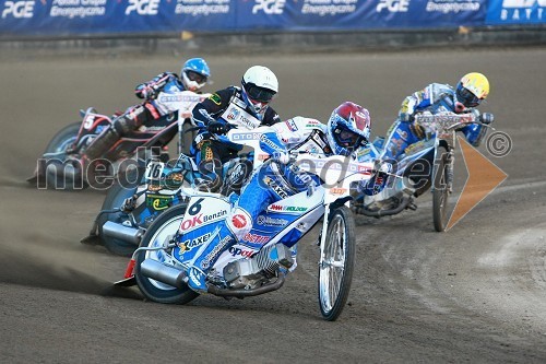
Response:
POLYGON ((294 265, 290 249, 276 244, 261 249, 252 258, 242 258, 224 267, 224 279, 229 289, 254 289, 276 275, 280 267, 294 265))

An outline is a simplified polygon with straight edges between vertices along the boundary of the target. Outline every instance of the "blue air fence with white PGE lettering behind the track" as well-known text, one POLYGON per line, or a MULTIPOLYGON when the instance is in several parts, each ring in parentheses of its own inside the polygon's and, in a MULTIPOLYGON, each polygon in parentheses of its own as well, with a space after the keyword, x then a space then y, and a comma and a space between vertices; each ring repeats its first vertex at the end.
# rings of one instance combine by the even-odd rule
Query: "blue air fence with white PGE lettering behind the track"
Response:
POLYGON ((546 0, 1 1, 0 37, 329 32, 544 24, 546 0))

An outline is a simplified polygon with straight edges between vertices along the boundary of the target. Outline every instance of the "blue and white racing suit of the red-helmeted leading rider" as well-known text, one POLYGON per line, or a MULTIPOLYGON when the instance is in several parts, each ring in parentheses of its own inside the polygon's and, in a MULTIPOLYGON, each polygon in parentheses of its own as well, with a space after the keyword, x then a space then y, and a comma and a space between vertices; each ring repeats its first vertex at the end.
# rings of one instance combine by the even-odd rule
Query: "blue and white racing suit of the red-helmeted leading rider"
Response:
MULTIPOLYGON (((312 153, 317 156, 332 155, 325 128, 318 120, 295 117, 280 122, 263 133, 260 148, 270 154, 271 163, 265 163, 254 172, 244 187, 228 216, 218 224, 213 236, 200 248, 187 271, 188 285, 195 292, 206 292, 205 278, 223 251, 235 244, 253 247, 246 236, 254 222, 260 224, 260 213, 268 206, 289 196, 320 185, 318 176, 302 172, 289 162, 287 150, 312 153)), ((262 216, 263 218, 263 216, 262 216)), ((307 231, 295 230, 290 242, 298 242, 307 231)), ((295 257, 296 246, 292 246, 295 257)), ((290 270, 295 269, 294 265, 290 270)))

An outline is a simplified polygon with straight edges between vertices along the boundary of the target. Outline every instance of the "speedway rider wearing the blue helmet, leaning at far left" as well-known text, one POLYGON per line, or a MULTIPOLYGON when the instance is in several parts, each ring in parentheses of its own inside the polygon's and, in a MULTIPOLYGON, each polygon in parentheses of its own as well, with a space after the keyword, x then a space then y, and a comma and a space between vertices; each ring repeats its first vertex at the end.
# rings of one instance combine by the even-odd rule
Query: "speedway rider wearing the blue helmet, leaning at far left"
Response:
POLYGON ((176 73, 167 71, 138 85, 134 93, 136 97, 143 98, 144 103, 128 108, 114 120, 109 128, 93 140, 85 150, 82 167, 93 160, 103 157, 121 137, 136 131, 142 125, 153 125, 163 116, 176 111, 170 109, 169 104, 164 104, 156 98, 162 91, 198 93, 207 83, 210 77, 211 70, 206 61, 203 58, 191 58, 183 63, 180 78, 176 73))

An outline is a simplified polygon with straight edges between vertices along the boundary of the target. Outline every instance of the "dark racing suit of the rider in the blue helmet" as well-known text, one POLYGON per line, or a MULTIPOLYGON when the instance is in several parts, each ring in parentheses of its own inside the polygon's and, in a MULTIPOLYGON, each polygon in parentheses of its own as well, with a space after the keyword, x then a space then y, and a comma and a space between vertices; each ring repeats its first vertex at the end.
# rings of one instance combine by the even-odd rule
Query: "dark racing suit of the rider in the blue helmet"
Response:
POLYGON ((185 91, 182 83, 178 75, 171 72, 163 72, 151 81, 139 84, 134 93, 144 102, 129 107, 112 121, 109 128, 98 134, 86 148, 85 158, 87 161, 99 157, 116 158, 118 153, 131 153, 132 151, 117 150, 121 137, 149 139, 170 126, 176 121, 176 118, 174 116, 163 117, 176 111, 173 109, 174 104, 164 102, 162 97, 157 96, 161 92, 177 93, 181 91, 185 91), (144 128, 141 128, 142 126, 144 128))

